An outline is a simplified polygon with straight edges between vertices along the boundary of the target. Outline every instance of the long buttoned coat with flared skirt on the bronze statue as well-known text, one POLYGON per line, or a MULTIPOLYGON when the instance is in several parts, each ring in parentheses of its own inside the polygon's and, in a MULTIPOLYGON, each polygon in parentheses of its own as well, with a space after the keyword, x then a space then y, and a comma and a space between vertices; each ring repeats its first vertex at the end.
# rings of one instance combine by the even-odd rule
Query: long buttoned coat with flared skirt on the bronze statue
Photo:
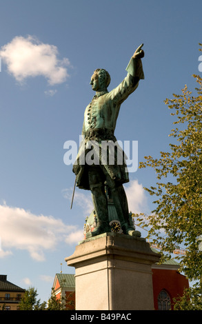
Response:
MULTIPOLYGON (((104 168, 110 174, 111 178, 117 183, 122 184, 129 181, 128 171, 124 159, 124 152, 121 151, 119 145, 114 150, 114 163, 109 163, 109 150, 107 158, 101 160, 102 141, 112 141, 116 143, 117 139, 114 136, 114 130, 119 115, 121 103, 128 98, 139 85, 139 79, 144 79, 141 59, 130 59, 127 76, 123 81, 110 92, 97 92, 91 103, 85 108, 83 120, 83 142, 79 148, 77 160, 73 165, 73 172, 76 174, 77 187, 89 190, 88 168, 89 163, 86 163, 88 152, 92 150, 94 155, 98 156, 98 163, 102 163, 104 168), (97 152, 97 153, 96 153, 97 152), (117 161, 118 153, 122 152, 122 163, 117 161)), ((110 142, 108 142, 110 143, 110 142)), ((103 156, 102 156, 103 158, 103 156)), ((95 156, 94 156, 95 159, 95 156)), ((120 155, 119 155, 120 159, 120 155)), ((95 163, 96 164, 96 163, 95 163)))

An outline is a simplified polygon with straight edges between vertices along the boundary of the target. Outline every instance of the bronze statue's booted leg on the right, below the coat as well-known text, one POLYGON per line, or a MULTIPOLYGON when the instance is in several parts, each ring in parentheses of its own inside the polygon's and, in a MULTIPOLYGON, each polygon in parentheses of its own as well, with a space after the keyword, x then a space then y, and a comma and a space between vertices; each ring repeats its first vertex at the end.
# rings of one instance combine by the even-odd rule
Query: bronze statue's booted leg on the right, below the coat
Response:
POLYGON ((125 201, 125 197, 119 196, 119 191, 117 188, 112 188, 111 190, 112 199, 114 201, 114 206, 117 210, 117 214, 119 216, 119 221, 121 222, 121 229, 123 230, 123 234, 128 234, 130 236, 141 236, 141 232, 134 229, 132 224, 128 221, 124 214, 128 214, 128 203, 125 201), (122 199, 121 199, 122 198, 122 199), (123 201, 124 199, 124 201, 123 201), (126 210, 124 210, 124 207, 126 210))

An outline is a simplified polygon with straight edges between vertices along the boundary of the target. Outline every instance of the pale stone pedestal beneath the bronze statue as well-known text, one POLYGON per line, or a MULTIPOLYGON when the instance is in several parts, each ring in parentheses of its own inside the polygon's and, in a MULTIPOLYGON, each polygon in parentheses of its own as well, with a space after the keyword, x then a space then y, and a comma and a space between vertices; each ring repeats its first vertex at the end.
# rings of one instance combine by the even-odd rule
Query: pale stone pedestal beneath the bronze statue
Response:
POLYGON ((65 259, 75 267, 76 310, 154 310, 159 258, 143 238, 105 233, 83 241, 65 259))

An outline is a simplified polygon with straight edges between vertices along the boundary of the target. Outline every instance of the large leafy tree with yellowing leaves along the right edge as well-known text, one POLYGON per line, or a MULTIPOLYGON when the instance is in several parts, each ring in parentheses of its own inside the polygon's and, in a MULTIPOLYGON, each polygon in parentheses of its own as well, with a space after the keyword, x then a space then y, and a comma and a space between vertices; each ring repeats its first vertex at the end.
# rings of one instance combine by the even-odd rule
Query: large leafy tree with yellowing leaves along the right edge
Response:
POLYGON ((156 197, 155 209, 150 216, 137 215, 137 221, 148 227, 148 236, 161 246, 165 257, 170 258, 183 245, 185 255, 172 258, 178 259, 188 279, 197 281, 202 276, 202 252, 197 241, 202 234, 202 79, 193 77, 195 94, 185 85, 182 94, 165 100, 175 117, 170 151, 161 152, 157 159, 145 156, 146 161, 139 165, 153 168, 158 182, 145 188, 156 197))

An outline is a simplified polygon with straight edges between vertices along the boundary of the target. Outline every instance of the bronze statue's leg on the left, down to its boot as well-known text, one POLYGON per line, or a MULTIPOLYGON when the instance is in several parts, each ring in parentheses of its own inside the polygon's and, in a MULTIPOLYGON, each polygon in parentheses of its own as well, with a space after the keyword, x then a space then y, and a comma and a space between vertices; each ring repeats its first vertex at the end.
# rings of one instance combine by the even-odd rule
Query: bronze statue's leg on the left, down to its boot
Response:
POLYGON ((88 236, 96 236, 105 232, 111 232, 108 219, 108 201, 105 194, 103 173, 99 166, 89 167, 88 179, 94 210, 97 214, 98 225, 88 236))

